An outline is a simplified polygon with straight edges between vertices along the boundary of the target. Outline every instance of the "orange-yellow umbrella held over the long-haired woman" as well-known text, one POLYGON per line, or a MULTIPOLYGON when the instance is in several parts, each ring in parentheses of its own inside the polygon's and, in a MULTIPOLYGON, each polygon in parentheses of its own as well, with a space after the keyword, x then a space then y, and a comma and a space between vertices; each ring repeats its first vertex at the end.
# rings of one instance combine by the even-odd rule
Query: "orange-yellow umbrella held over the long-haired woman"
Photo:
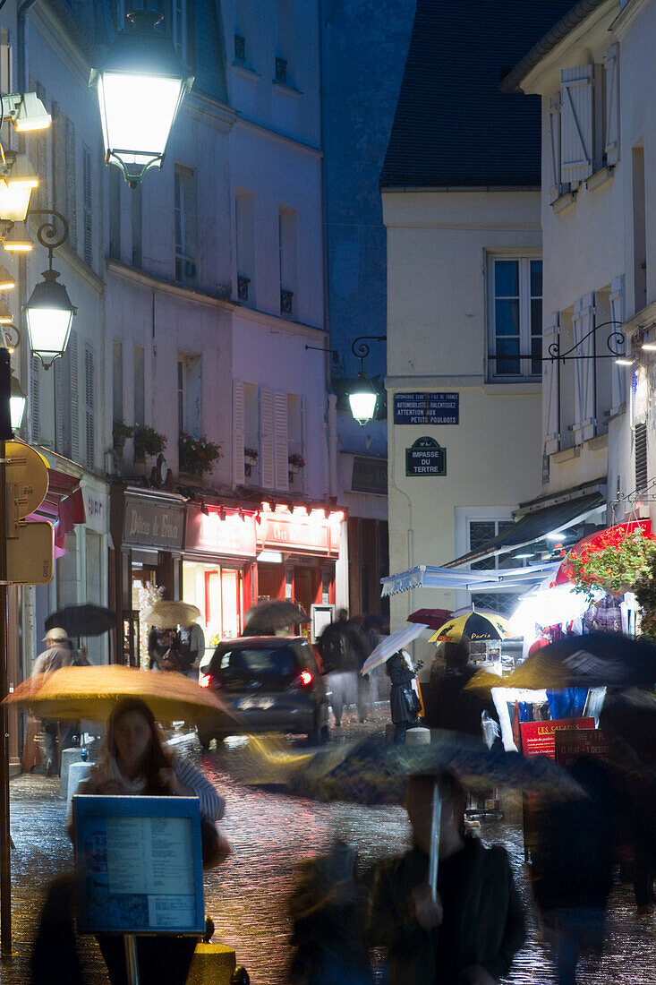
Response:
POLYGON ((183 674, 158 674, 122 664, 62 667, 37 675, 19 685, 3 704, 28 707, 39 718, 101 721, 126 697, 141 698, 163 722, 192 722, 229 710, 212 689, 199 688, 183 674))

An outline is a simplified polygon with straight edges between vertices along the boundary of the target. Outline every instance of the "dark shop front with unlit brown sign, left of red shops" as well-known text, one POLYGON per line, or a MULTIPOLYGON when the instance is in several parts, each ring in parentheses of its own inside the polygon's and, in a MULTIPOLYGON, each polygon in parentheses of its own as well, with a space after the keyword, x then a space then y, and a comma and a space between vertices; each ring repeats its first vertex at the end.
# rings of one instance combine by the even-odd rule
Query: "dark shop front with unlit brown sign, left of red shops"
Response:
POLYGON ((120 623, 116 628, 116 660, 131 667, 147 664, 147 626, 140 610, 158 597, 179 599, 186 500, 174 493, 111 490, 109 598, 120 623))

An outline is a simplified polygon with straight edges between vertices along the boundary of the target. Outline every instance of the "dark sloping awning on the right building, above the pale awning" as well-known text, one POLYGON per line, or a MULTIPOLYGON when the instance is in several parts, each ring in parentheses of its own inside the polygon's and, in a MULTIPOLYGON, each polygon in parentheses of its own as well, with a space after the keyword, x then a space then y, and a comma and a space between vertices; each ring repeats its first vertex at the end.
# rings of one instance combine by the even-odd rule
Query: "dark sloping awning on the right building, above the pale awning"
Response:
POLYGON ((553 506, 538 509, 535 513, 526 513, 501 534, 492 537, 483 547, 460 558, 450 560, 443 567, 458 567, 460 564, 471 564, 474 560, 491 558, 503 554, 513 548, 521 548, 526 544, 540 541, 547 534, 559 533, 567 527, 585 520, 591 513, 605 505, 606 499, 602 493, 589 493, 566 502, 558 502, 553 506))

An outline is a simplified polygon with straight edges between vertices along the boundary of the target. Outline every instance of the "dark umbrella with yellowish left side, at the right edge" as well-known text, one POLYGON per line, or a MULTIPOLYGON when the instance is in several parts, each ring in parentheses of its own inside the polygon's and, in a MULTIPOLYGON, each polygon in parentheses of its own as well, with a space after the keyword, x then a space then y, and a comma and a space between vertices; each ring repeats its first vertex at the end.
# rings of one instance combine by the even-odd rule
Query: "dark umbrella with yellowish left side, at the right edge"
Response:
MULTIPOLYGON (((620 632, 565 636, 527 657, 508 688, 629 688, 656 682, 656 646, 620 632)), ((472 680, 472 685, 475 679, 472 680)))

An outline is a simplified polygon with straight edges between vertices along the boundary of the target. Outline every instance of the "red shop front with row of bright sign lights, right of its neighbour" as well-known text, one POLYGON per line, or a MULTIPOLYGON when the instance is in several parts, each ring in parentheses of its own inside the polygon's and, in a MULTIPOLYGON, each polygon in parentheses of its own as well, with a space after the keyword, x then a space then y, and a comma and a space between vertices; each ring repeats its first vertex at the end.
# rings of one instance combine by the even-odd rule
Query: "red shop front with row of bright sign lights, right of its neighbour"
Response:
MULTIPOLYGON (((313 607, 334 606, 343 518, 341 511, 326 515, 323 509, 265 504, 256 524, 257 599, 289 599, 308 616, 313 607)), ((302 631, 312 638, 312 623, 302 631)))

